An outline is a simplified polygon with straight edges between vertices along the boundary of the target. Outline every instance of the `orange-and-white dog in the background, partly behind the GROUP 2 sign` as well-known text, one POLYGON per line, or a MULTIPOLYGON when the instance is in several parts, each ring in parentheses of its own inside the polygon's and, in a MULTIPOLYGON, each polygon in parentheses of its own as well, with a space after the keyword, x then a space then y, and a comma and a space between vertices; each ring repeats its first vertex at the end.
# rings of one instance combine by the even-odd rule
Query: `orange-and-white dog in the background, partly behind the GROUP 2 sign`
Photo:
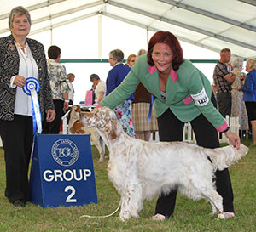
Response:
POLYGON ((79 105, 73 105, 70 108, 70 112, 67 116, 68 121, 68 133, 69 134, 90 134, 91 142, 96 146, 96 149, 100 153, 99 162, 104 161, 105 156, 105 143, 99 133, 96 132, 95 128, 84 127, 79 122, 81 108, 79 105))

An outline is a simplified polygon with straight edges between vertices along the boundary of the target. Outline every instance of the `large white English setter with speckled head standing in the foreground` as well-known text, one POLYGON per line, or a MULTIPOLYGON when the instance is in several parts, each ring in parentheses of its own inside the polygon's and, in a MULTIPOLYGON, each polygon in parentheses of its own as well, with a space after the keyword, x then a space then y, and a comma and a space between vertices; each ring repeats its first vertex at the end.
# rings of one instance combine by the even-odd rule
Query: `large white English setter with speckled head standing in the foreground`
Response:
POLYGON ((225 218, 222 197, 212 178, 214 171, 223 170, 241 159, 248 148, 241 144, 207 149, 186 142, 149 143, 124 133, 113 110, 102 107, 82 113, 86 127, 96 127, 108 146, 108 178, 121 195, 119 218, 138 217, 143 200, 152 200, 178 186, 183 195, 193 200, 209 201, 212 212, 225 218))

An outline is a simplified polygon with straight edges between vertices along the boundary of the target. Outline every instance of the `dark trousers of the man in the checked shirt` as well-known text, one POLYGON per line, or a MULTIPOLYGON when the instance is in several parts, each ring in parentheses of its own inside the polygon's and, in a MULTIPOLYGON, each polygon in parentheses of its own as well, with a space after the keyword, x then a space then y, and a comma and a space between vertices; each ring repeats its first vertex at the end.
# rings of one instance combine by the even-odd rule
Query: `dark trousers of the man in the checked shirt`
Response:
POLYGON ((218 111, 222 116, 231 116, 232 108, 232 94, 227 93, 217 93, 218 111))

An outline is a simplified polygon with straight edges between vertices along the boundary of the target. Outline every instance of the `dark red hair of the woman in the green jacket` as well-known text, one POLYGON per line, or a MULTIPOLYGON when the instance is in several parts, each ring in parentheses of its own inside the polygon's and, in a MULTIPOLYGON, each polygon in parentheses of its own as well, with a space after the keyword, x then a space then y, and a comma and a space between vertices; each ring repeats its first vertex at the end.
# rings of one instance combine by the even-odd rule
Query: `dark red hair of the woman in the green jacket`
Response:
POLYGON ((169 31, 157 31, 153 37, 151 37, 150 41, 148 42, 148 65, 153 66, 154 61, 152 59, 152 51, 154 45, 158 42, 163 42, 169 45, 173 53, 173 60, 172 60, 172 68, 174 71, 177 71, 179 65, 183 63, 183 48, 181 48, 180 43, 171 32, 169 31))

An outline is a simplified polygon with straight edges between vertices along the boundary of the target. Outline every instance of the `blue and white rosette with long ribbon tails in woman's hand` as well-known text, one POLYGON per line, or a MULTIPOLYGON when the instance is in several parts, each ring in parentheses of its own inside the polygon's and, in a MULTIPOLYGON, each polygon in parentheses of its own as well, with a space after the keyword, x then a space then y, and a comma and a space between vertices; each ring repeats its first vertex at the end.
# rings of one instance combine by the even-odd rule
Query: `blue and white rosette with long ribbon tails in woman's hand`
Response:
POLYGON ((38 102, 38 92, 40 90, 40 83, 35 77, 26 78, 26 86, 23 87, 24 93, 31 96, 32 100, 32 119, 33 119, 33 134, 37 132, 42 133, 42 116, 38 102))

